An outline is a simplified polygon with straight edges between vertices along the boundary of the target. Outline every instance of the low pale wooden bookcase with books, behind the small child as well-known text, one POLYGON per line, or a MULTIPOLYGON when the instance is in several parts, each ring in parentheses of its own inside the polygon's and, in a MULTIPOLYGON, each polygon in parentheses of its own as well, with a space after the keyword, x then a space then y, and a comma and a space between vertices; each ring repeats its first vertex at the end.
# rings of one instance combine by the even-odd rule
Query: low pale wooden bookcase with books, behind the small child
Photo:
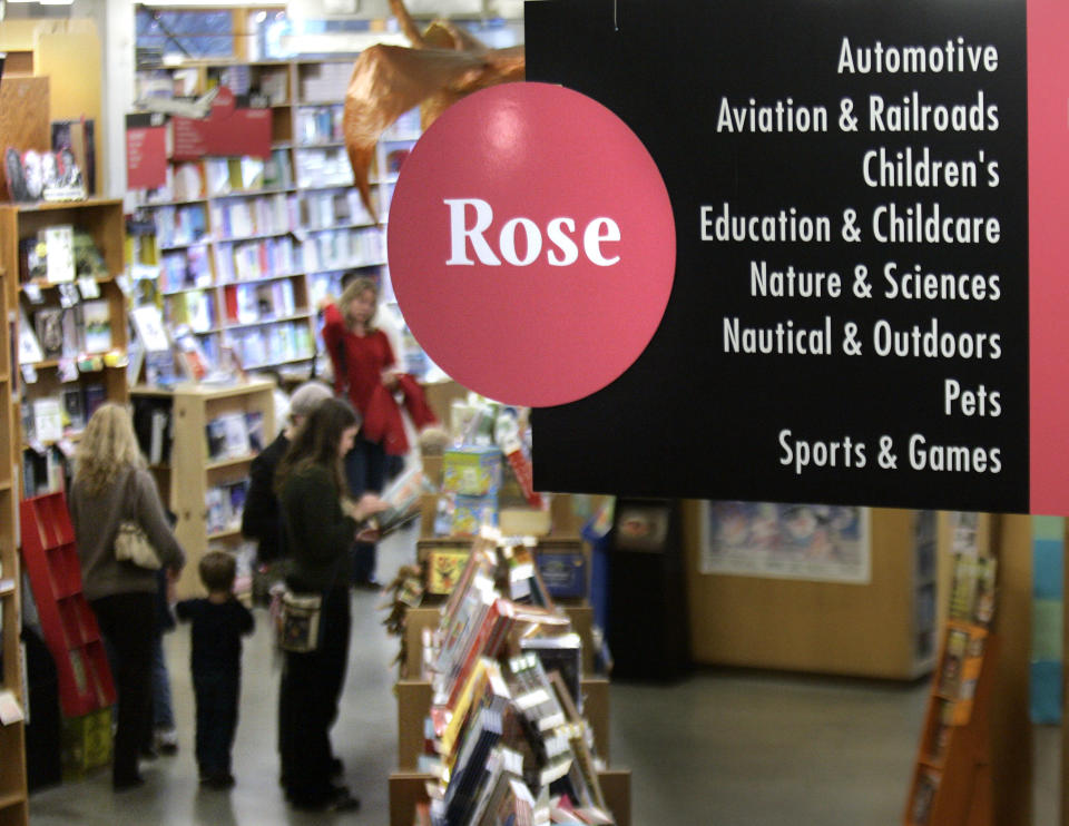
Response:
POLYGON ((197 563, 209 550, 236 554, 236 589, 252 588, 254 549, 241 535, 242 507, 249 463, 275 436, 274 386, 249 381, 130 392, 138 441, 177 517, 175 535, 187 555, 179 598, 203 593, 197 563))

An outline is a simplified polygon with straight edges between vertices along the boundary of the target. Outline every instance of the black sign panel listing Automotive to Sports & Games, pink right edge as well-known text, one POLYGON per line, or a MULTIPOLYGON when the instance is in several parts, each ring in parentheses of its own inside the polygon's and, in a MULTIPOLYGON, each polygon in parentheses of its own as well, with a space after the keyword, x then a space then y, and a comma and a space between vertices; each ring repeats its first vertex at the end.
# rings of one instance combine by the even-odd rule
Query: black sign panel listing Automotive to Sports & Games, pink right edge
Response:
POLYGON ((1052 0, 530 4, 528 79, 634 129, 677 238, 638 361, 534 412, 536 486, 1069 513, 1067 23, 1052 0))

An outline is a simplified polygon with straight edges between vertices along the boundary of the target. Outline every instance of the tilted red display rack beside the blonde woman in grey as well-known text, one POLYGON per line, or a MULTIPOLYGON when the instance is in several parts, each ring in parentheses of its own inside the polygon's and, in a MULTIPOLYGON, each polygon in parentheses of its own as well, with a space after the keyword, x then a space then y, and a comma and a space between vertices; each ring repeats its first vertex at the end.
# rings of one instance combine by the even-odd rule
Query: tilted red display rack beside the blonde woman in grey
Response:
POLYGON ((81 591, 75 530, 62 492, 22 500, 22 562, 59 672, 63 715, 80 717, 115 702, 97 618, 81 591))

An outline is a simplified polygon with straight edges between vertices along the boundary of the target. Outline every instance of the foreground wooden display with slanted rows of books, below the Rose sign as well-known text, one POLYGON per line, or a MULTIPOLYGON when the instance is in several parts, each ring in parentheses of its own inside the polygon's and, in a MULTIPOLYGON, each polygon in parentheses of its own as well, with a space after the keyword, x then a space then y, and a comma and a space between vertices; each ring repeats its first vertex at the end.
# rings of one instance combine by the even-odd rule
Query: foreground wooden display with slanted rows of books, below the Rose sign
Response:
POLYGON ((587 671, 588 642, 523 542, 492 530, 469 540, 447 601, 415 612, 391 826, 538 823, 553 810, 630 823, 630 774, 606 767, 608 681, 587 671))

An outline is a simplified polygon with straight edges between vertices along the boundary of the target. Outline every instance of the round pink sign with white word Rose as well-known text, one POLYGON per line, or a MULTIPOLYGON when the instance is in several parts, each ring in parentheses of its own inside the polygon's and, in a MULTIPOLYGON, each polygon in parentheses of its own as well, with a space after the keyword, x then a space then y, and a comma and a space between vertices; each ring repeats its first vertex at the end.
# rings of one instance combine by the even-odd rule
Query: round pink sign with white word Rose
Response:
POLYGON ((616 115, 548 83, 450 107, 404 161, 390 275, 416 341, 465 387, 551 406, 624 373, 676 264, 668 193, 616 115))

